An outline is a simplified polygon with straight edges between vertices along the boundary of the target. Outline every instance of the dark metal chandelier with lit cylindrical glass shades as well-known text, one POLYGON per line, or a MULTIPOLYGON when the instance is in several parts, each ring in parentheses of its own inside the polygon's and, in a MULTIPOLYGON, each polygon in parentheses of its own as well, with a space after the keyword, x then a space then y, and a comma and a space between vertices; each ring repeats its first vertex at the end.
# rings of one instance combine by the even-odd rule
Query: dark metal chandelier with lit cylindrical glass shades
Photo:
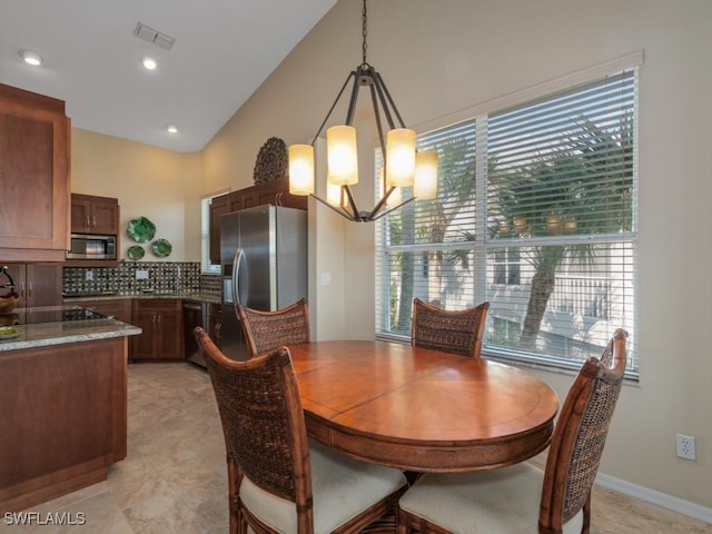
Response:
POLYGON ((437 191, 437 151, 416 151, 415 131, 405 127, 383 77, 366 60, 366 0, 364 0, 362 14, 362 65, 346 78, 312 144, 291 145, 289 147, 289 192, 303 196, 310 195, 348 220, 370 222, 416 198, 422 200, 435 198, 437 191), (326 130, 327 196, 326 200, 324 200, 314 192, 314 145, 349 81, 352 82, 352 92, 346 121, 344 125, 333 126, 326 130), (358 184, 358 150, 356 146, 356 129, 353 122, 356 102, 362 88, 368 88, 370 93, 373 115, 385 169, 383 176, 385 192, 370 210, 359 210, 352 192, 352 186, 358 184), (385 132, 384 125, 388 127, 385 132), (394 201, 395 198, 399 198, 394 191, 404 187, 413 187, 413 196, 405 201, 394 201))

